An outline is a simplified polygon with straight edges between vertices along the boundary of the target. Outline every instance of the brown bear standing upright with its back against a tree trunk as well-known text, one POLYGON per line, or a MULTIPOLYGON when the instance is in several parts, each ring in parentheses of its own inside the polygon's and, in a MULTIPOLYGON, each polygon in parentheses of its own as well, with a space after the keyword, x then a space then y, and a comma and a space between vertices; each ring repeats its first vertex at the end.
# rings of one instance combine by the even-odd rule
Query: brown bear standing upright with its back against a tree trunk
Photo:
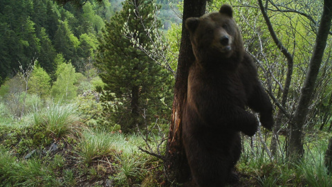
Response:
POLYGON ((183 109, 183 145, 192 177, 199 186, 225 186, 241 154, 239 132, 253 136, 261 124, 273 125, 273 107, 243 48, 232 7, 190 17, 196 61, 190 67, 183 109))

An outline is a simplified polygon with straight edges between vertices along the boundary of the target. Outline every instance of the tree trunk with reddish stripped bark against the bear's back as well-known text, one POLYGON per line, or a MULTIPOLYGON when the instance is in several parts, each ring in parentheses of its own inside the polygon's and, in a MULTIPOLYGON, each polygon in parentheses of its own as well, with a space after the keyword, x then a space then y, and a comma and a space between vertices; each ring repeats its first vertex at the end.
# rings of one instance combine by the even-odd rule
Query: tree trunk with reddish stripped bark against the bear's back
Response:
POLYGON ((169 126, 167 149, 165 154, 165 174, 169 181, 183 183, 190 177, 190 168, 185 156, 182 142, 182 112, 183 100, 187 96, 187 78, 190 65, 195 57, 185 20, 188 17, 201 17, 205 13, 206 0, 183 1, 183 25, 176 84, 174 91, 172 122, 169 126))

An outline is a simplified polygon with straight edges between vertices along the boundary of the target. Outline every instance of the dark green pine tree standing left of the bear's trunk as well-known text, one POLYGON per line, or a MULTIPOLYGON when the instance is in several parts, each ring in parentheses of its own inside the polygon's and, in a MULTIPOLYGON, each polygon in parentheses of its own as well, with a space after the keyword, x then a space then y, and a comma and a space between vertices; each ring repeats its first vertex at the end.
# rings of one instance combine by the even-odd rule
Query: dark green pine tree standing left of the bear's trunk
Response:
POLYGON ((147 32, 151 30, 145 28, 156 24, 151 14, 155 8, 151 0, 124 1, 122 10, 111 17, 100 39, 96 65, 106 83, 101 100, 111 120, 123 132, 133 132, 136 125, 149 124, 154 116, 167 114, 168 117, 170 112, 172 75, 135 48, 128 36, 131 33, 149 49, 155 38, 149 35, 150 38, 147 32))

